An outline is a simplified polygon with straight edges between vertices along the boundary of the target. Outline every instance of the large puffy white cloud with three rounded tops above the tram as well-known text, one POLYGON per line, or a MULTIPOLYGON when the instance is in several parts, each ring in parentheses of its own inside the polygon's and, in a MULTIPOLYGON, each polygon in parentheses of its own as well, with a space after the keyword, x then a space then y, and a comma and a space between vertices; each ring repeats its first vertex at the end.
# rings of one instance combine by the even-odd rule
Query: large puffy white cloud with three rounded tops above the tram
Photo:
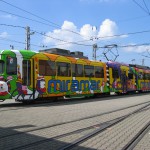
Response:
POLYGON ((90 39, 96 39, 97 37, 104 36, 112 36, 114 34, 117 34, 117 31, 118 27, 116 23, 114 21, 111 21, 110 19, 104 20, 98 30, 95 26, 92 26, 90 24, 85 24, 80 29, 78 29, 73 22, 64 21, 61 29, 55 29, 46 33, 47 36, 44 36, 43 43, 55 46, 61 44, 59 47, 73 48, 73 46, 75 45, 72 42, 87 40, 83 44, 92 44, 92 40, 90 41, 90 39))

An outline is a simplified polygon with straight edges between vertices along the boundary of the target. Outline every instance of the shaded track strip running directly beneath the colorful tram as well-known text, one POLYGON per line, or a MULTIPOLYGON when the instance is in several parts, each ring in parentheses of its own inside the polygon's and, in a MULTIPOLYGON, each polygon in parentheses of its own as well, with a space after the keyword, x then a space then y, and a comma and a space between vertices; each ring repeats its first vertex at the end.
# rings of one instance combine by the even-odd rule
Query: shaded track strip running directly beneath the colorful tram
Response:
MULTIPOLYGON (((134 97, 134 96, 142 96, 142 95, 148 95, 149 93, 136 93, 136 94, 130 94, 130 95, 103 95, 101 97, 95 97, 95 98, 83 98, 83 99, 60 99, 56 101, 35 101, 33 103, 0 103, 0 112, 3 111, 15 111, 20 109, 29 109, 33 107, 40 107, 40 106, 59 106, 59 105, 70 105, 73 103, 87 103, 91 101, 101 101, 102 100, 110 100, 110 99, 116 99, 116 98, 123 98, 123 97, 134 97)), ((15 100, 14 100, 15 101, 15 100)))

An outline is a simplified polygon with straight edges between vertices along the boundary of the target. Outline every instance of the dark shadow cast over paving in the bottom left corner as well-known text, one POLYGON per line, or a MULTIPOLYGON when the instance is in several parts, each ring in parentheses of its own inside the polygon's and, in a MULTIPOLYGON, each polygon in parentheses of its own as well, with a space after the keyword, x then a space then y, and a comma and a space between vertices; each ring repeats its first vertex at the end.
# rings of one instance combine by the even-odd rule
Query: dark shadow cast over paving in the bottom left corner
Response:
MULTIPOLYGON (((0 149, 1 150, 61 150, 63 147, 69 143, 59 141, 54 138, 48 137, 48 133, 43 133, 42 131, 34 132, 21 132, 17 131, 21 128, 30 128, 32 125, 15 126, 4 128, 0 127, 0 149), (45 135, 45 137, 40 136, 45 135), (39 135, 38 135, 39 134, 39 135)), ((94 150, 86 147, 76 146, 78 150, 94 150)))

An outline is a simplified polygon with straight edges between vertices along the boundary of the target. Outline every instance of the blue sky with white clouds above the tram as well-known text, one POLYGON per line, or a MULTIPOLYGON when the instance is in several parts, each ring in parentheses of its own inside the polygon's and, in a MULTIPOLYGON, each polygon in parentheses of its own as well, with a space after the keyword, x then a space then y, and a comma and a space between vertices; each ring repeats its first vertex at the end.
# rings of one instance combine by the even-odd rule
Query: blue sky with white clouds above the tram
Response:
POLYGON ((150 66, 149 0, 0 0, 0 49, 62 48, 150 66))

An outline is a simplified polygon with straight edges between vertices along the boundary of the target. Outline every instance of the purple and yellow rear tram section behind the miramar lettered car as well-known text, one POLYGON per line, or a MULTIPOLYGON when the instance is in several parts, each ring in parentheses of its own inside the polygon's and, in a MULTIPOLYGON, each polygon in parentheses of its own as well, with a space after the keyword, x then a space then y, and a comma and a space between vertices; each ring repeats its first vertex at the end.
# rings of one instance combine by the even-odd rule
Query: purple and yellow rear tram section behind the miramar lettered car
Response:
POLYGON ((110 92, 129 93, 150 91, 150 68, 140 65, 108 62, 110 92))

